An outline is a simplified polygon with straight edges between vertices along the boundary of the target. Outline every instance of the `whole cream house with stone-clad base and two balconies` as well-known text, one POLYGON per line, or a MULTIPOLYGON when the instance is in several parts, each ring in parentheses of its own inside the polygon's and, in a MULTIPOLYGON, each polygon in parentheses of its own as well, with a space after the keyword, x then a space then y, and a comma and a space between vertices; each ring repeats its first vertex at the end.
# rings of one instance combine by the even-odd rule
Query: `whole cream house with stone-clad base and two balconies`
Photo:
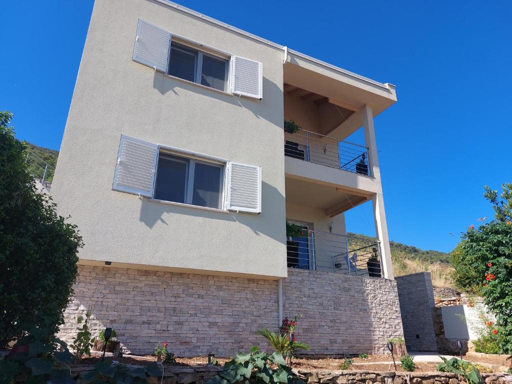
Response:
POLYGON ((373 119, 395 101, 177 4, 96 0, 52 184, 85 243, 60 336, 87 308, 127 351, 229 356, 300 314, 312 354, 383 351, 403 332, 373 119), (378 240, 348 238, 366 201, 378 240))

